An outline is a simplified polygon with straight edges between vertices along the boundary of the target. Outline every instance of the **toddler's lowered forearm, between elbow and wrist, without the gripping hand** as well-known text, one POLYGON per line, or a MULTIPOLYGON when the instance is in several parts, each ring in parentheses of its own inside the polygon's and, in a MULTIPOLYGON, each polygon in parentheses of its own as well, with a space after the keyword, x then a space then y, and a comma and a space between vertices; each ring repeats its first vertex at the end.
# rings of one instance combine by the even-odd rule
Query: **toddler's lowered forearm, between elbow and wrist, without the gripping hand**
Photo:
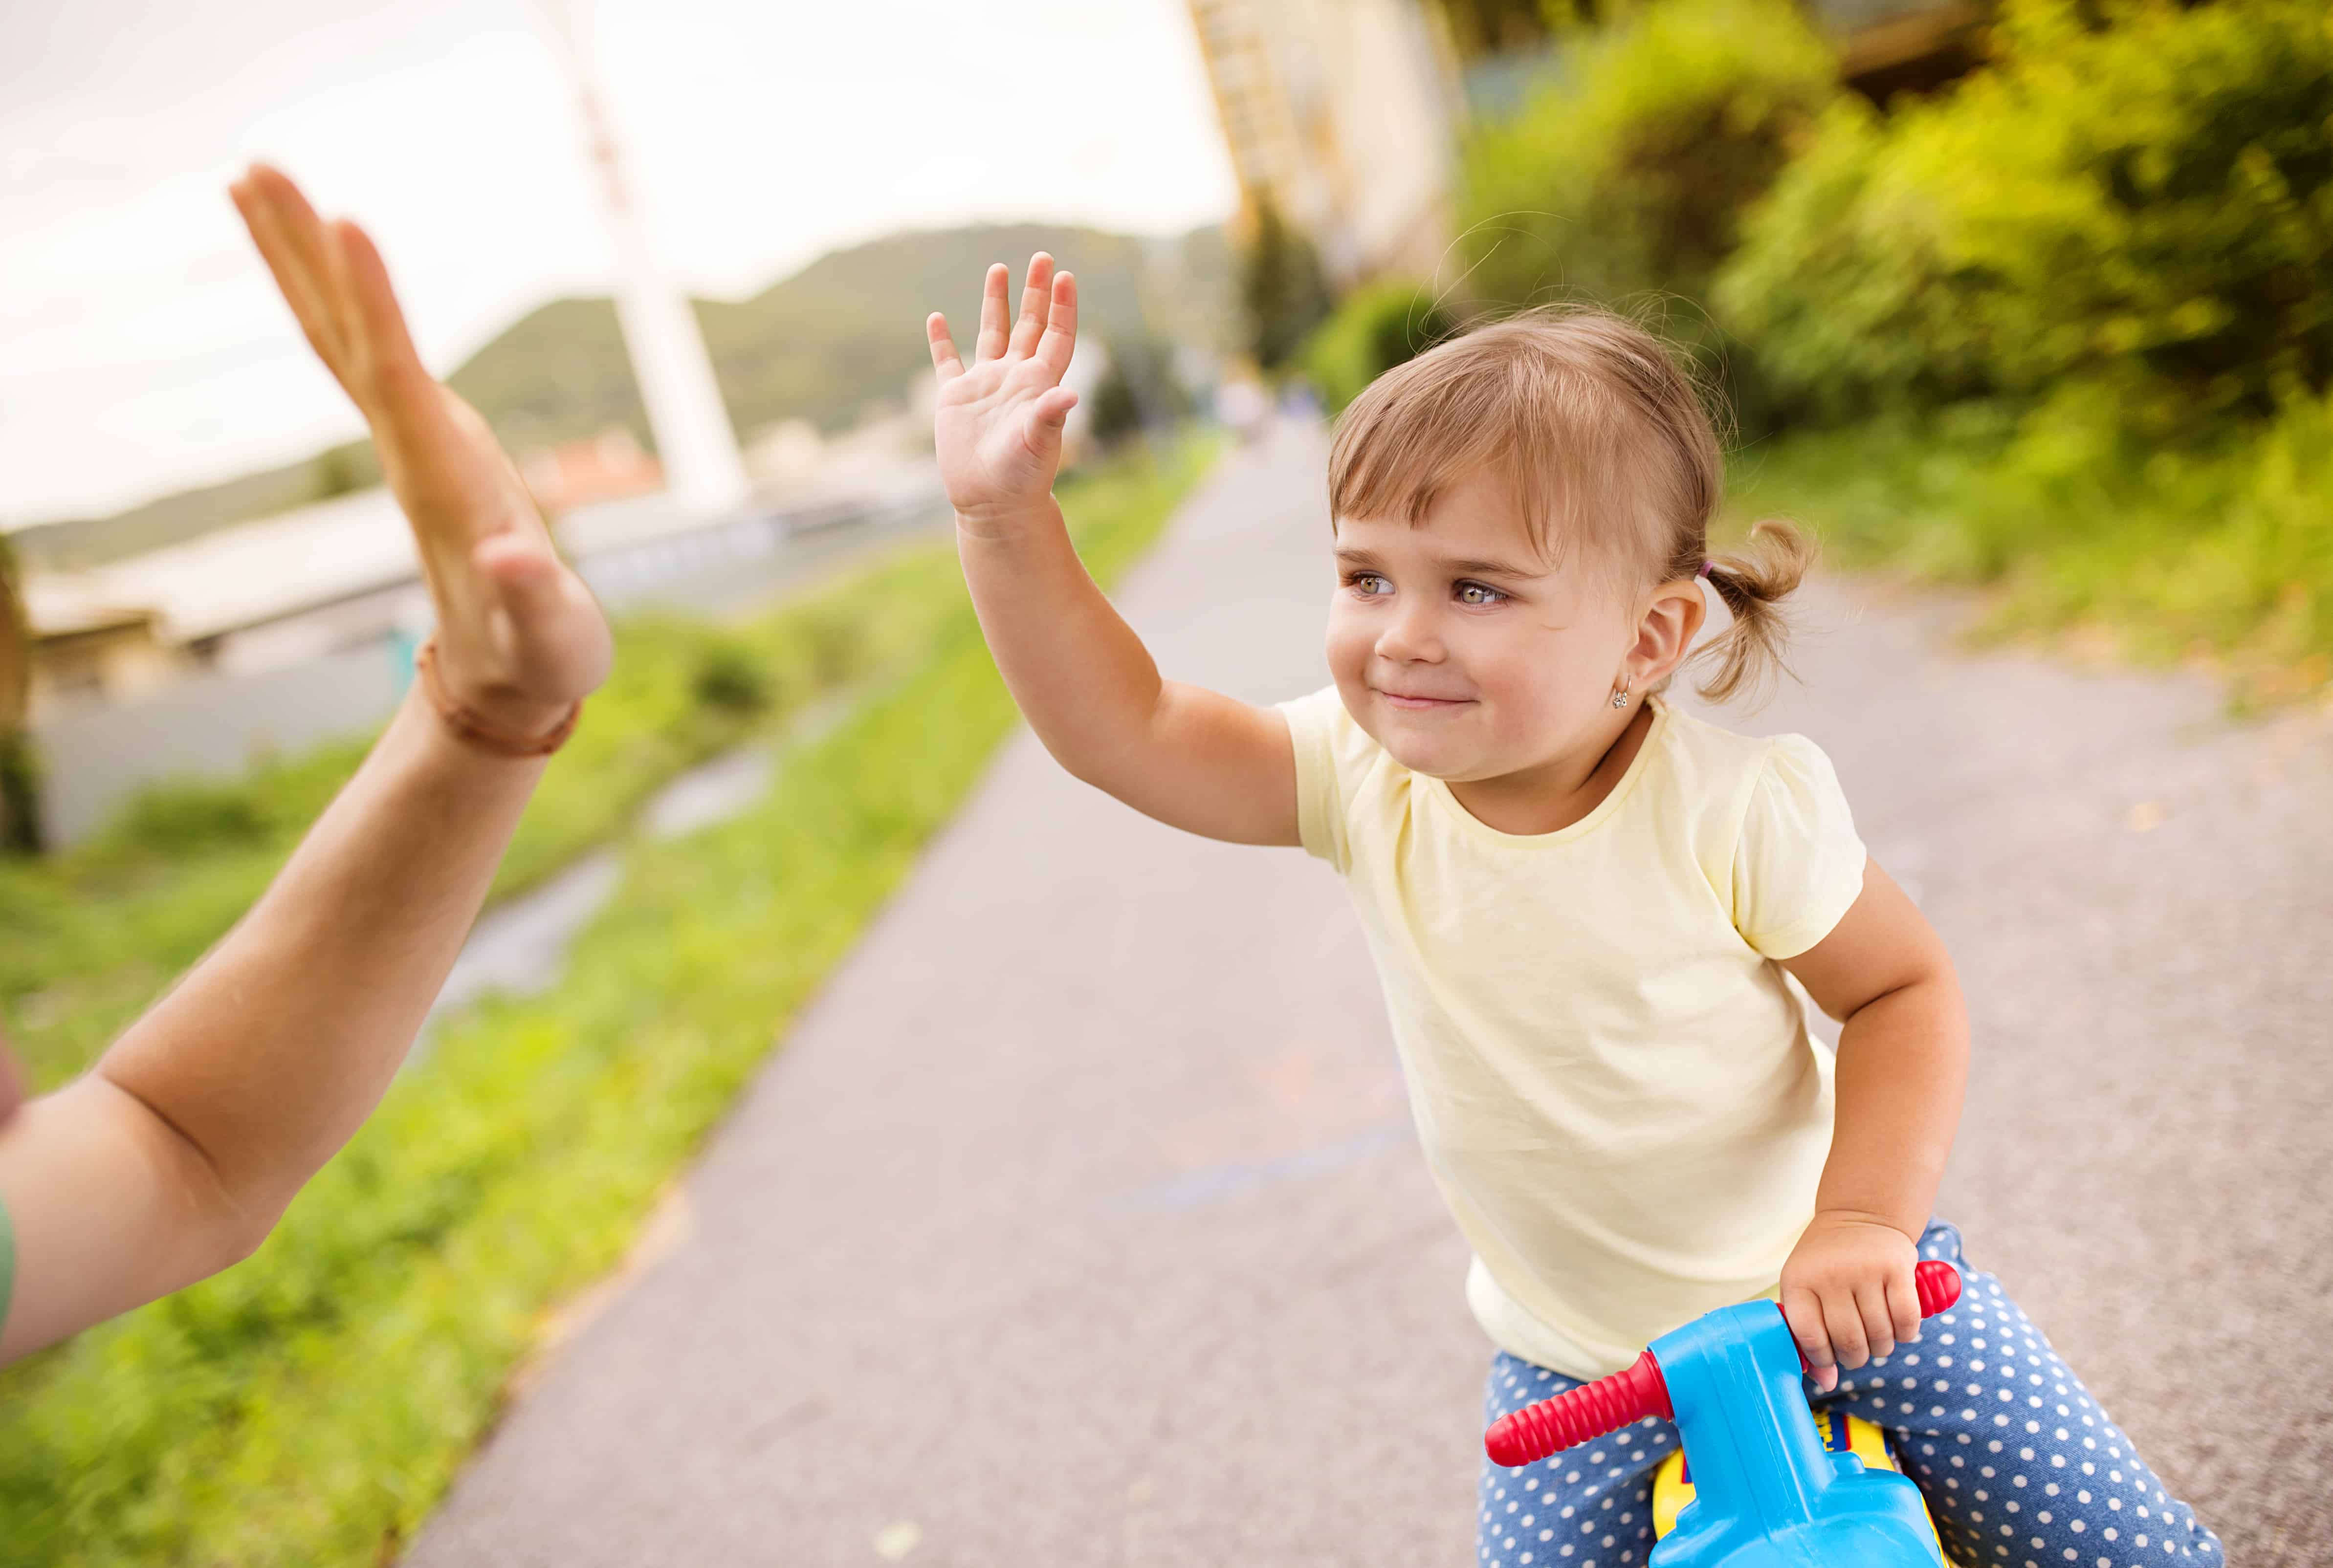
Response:
POLYGON ((1969 1017, 1950 971, 1876 996, 1838 1034, 1838 1113, 1815 1206, 1918 1239, 1969 1083, 1969 1017))

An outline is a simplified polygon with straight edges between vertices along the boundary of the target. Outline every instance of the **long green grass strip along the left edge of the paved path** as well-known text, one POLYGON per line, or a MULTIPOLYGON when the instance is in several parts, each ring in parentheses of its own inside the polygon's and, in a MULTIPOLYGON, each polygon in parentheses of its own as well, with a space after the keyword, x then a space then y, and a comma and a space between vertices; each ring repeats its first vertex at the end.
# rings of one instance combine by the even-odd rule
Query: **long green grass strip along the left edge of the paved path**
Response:
MULTIPOLYGON (((1206 455, 1064 490, 1101 581, 1206 455)), ((758 807, 632 845, 569 978, 450 1027, 247 1265, 0 1384, 9 1561, 371 1566, 411 1538, 1013 728, 947 553, 894 569, 863 604, 922 625, 912 665, 758 807)))

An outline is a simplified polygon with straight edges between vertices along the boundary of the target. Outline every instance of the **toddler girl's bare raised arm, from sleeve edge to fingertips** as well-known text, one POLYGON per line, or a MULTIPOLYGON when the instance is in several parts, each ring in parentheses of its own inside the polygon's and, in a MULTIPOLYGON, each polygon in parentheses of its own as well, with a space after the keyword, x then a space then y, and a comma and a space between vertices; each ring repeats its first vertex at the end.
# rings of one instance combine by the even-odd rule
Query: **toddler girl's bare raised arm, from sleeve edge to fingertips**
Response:
POLYGON ((1078 282, 1029 261, 1006 331, 1008 271, 989 268, 973 364, 947 317, 926 322, 940 378, 940 478, 957 551, 996 670, 1029 728, 1073 775, 1164 824, 1241 845, 1297 842, 1288 721, 1222 693, 1160 679, 1134 628, 1069 544, 1052 476, 1078 394, 1062 373, 1078 336, 1078 282))

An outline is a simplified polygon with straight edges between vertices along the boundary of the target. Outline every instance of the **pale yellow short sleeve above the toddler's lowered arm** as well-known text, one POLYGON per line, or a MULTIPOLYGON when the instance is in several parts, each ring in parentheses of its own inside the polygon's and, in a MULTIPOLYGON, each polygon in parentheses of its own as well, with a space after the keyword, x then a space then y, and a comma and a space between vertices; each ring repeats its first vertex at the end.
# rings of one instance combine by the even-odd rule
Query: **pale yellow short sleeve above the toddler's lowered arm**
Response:
POLYGON ((1803 735, 1778 735, 1733 845, 1733 929, 1768 959, 1799 957, 1864 891, 1864 861, 1831 758, 1803 735))

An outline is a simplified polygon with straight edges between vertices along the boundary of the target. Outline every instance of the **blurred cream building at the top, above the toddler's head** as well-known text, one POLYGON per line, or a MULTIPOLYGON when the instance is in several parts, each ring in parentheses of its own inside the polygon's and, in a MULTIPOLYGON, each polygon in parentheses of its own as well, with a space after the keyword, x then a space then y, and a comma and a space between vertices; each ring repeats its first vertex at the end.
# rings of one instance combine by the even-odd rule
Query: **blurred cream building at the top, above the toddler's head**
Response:
POLYGON ((1236 231, 1271 205, 1330 282, 1435 278, 1463 100, 1423 0, 1190 0, 1239 175, 1236 231))

